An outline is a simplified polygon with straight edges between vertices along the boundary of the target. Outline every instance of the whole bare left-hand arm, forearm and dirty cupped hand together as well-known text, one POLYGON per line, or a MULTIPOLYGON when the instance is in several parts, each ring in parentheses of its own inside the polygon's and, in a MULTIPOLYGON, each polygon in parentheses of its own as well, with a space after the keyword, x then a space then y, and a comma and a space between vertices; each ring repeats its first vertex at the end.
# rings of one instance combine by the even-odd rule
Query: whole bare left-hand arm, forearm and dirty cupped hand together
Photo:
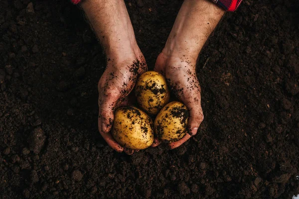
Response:
POLYGON ((99 84, 98 128, 110 147, 118 152, 128 150, 117 143, 111 133, 114 110, 127 105, 139 74, 147 64, 135 39, 134 29, 123 0, 87 0, 81 6, 107 56, 107 69, 99 84))

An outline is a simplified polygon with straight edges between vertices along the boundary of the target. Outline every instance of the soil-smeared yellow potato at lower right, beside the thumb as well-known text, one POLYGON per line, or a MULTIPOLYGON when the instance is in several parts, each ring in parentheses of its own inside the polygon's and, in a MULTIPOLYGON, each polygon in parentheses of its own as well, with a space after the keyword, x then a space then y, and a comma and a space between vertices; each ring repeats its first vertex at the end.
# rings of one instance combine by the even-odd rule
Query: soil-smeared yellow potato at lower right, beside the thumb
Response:
POLYGON ((187 133, 188 108, 179 101, 166 104, 154 120, 156 137, 164 142, 175 142, 187 133))

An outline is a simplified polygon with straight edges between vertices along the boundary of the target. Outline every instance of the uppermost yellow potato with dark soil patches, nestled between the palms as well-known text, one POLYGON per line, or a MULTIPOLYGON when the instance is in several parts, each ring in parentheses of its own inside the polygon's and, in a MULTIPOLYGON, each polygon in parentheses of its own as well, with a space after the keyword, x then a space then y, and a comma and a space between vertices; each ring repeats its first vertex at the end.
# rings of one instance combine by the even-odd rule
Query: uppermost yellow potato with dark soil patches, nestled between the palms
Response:
POLYGON ((135 87, 139 106, 146 112, 156 115, 168 103, 170 92, 165 78, 155 71, 143 73, 135 87))

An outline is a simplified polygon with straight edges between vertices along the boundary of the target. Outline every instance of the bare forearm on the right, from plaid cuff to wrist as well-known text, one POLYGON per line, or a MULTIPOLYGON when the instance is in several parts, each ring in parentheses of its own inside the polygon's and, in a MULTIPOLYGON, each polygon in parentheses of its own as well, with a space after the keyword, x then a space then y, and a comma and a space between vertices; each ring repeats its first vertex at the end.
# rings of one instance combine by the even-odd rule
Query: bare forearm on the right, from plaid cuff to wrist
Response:
POLYGON ((196 60, 224 10, 210 0, 185 0, 169 34, 165 55, 188 53, 196 60))

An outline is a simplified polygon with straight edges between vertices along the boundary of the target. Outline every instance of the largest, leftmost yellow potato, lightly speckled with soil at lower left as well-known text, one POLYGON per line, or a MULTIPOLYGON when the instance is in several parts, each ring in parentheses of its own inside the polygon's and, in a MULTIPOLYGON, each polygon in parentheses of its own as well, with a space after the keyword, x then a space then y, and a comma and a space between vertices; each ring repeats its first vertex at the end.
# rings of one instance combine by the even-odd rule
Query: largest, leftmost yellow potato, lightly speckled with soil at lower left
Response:
POLYGON ((130 149, 146 149, 153 142, 153 122, 134 106, 118 108, 111 129, 114 139, 130 149))

